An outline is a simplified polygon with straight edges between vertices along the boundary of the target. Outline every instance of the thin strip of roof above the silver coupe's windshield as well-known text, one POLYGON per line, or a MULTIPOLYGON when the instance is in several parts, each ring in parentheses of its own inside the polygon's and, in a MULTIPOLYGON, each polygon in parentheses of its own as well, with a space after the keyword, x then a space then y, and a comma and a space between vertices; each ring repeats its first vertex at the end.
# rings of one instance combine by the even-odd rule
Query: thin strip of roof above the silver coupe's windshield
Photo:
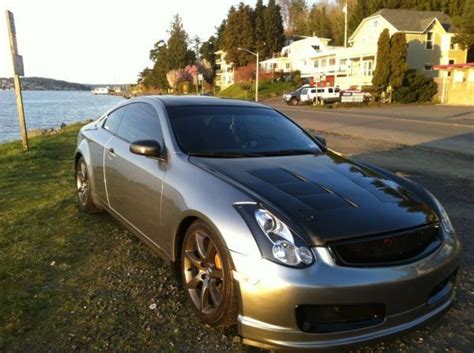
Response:
POLYGON ((264 104, 242 101, 236 99, 226 99, 208 96, 148 96, 154 100, 158 100, 166 107, 179 106, 239 106, 239 107, 259 107, 270 108, 264 104))

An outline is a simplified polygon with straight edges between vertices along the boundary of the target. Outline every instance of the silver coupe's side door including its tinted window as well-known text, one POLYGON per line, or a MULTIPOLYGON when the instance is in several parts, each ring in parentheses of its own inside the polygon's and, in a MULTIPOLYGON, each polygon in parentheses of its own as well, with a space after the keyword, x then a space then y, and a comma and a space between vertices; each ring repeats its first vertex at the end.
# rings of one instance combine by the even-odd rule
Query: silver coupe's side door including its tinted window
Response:
POLYGON ((158 230, 166 163, 130 152, 130 144, 137 140, 156 140, 164 148, 158 114, 148 103, 128 105, 116 135, 105 148, 109 207, 160 246, 158 230))

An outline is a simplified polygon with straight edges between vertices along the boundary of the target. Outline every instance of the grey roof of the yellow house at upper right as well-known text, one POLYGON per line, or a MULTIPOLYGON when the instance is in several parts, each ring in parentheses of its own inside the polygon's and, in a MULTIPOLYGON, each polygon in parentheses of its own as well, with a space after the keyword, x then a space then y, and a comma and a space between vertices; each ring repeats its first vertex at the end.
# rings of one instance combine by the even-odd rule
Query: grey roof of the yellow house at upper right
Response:
POLYGON ((446 32, 456 32, 451 17, 440 11, 382 9, 369 17, 380 15, 400 32, 424 32, 437 19, 446 32))

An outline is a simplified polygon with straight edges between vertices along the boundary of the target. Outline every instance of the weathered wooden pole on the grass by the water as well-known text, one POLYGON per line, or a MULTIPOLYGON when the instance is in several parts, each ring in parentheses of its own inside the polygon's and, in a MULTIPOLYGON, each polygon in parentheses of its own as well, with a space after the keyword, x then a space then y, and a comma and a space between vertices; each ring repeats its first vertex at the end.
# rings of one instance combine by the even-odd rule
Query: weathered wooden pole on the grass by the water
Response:
POLYGON ((13 81, 15 83, 16 105, 18 107, 18 120, 20 121, 21 140, 23 142, 23 149, 29 150, 28 132, 26 130, 25 110, 23 109, 23 97, 21 95, 21 80, 20 76, 24 76, 23 57, 18 54, 18 45, 16 42, 15 19, 13 13, 6 10, 8 36, 10 37, 10 51, 13 60, 13 81))

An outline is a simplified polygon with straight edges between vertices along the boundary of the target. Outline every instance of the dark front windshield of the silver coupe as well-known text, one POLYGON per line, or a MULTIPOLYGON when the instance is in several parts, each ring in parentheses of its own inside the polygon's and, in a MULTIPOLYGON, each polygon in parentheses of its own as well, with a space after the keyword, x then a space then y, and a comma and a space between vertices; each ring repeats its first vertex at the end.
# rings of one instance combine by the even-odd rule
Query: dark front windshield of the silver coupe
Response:
POLYGON ((321 152, 300 127, 272 109, 181 106, 167 110, 178 144, 189 155, 238 158, 321 152))

